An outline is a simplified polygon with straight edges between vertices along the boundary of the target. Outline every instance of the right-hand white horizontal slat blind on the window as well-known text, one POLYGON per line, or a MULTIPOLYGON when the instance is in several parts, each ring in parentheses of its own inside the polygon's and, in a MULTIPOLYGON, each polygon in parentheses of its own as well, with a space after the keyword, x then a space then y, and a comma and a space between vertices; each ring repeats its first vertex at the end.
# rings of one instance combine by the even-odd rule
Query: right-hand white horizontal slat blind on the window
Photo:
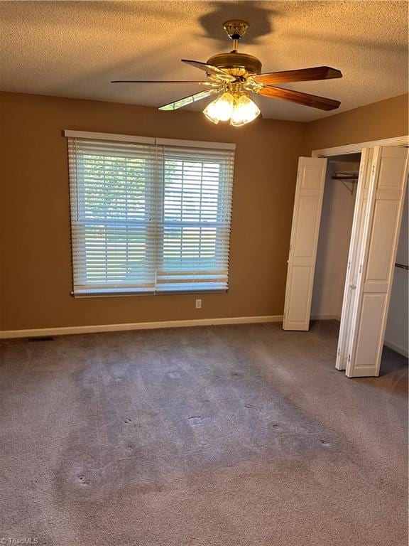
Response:
POLYGON ((226 290, 234 151, 162 146, 158 291, 226 290))

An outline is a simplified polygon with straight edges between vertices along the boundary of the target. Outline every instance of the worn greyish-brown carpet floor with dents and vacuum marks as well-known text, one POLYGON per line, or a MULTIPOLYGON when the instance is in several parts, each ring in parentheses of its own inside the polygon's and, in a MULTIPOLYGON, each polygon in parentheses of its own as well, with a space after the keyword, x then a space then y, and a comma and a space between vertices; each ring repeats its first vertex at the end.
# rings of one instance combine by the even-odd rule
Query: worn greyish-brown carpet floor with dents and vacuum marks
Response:
POLYGON ((348 379, 337 328, 2 341, 0 539, 406 545, 408 360, 348 379))

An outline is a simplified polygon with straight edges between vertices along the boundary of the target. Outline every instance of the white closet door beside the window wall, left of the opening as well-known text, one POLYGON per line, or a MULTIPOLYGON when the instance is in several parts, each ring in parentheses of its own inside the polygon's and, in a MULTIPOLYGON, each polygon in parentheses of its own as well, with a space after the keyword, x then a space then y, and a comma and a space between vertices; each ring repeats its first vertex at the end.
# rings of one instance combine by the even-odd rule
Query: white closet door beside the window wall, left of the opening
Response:
POLYGON ((284 330, 308 330, 327 159, 300 157, 285 288, 284 330))

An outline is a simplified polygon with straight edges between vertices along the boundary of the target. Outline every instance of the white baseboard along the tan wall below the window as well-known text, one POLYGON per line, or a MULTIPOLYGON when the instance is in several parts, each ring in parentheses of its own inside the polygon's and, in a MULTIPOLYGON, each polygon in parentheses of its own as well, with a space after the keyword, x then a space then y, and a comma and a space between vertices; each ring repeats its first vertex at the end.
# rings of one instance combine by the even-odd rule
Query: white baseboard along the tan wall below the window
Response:
POLYGON ((231 316, 223 319, 192 319, 187 321, 131 322, 124 324, 97 324, 90 326, 63 326, 62 328, 33 328, 29 330, 2 330, 0 339, 35 338, 41 336, 67 336, 73 333, 116 332, 126 330, 152 330, 153 328, 184 328, 188 326, 217 326, 218 324, 250 324, 280 322, 283 315, 231 316))

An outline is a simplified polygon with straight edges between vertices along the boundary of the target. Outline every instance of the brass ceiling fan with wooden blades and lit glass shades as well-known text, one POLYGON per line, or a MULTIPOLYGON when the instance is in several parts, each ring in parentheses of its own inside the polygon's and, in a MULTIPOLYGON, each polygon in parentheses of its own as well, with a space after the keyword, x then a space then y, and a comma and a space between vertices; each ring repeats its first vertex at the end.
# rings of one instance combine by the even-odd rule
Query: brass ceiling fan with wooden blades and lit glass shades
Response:
POLYGON ((322 110, 336 109, 341 104, 339 100, 276 87, 276 84, 282 83, 329 80, 334 77, 342 77, 342 73, 339 70, 330 68, 329 66, 317 66, 314 68, 263 74, 261 73, 261 62, 258 58, 247 53, 238 53, 237 51, 239 40, 243 38, 249 29, 249 23, 233 19, 226 21, 223 28, 233 41, 233 49, 230 53, 213 55, 207 60, 207 63, 182 59, 182 63, 187 63, 203 70, 207 75, 207 80, 114 80, 112 83, 181 83, 185 85, 195 83, 197 85, 204 85, 206 90, 170 102, 159 109, 176 110, 211 95, 219 95, 216 100, 207 105, 203 113, 214 123, 230 120, 230 124, 236 127, 253 121, 260 114, 260 109, 258 109, 257 105, 250 98, 251 93, 273 99, 287 100, 295 102, 298 105, 310 106, 322 110))

